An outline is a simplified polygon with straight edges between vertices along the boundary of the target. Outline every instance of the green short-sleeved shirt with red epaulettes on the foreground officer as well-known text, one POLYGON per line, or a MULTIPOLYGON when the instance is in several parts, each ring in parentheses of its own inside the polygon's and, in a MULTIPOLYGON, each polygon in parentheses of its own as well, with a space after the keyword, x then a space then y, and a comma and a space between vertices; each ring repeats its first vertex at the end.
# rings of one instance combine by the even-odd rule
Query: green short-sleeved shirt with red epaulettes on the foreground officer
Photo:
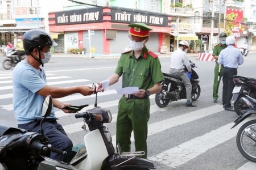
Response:
POLYGON ((146 46, 138 59, 133 51, 123 53, 119 58, 115 74, 123 75, 122 88, 148 89, 164 80, 159 58, 146 46))

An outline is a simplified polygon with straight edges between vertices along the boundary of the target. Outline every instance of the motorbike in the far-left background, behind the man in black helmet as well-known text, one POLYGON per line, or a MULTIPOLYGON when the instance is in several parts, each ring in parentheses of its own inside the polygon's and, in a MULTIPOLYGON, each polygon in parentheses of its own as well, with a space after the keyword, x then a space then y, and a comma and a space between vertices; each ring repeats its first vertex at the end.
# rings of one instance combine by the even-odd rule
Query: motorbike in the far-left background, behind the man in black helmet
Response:
MULTIPOLYGON (((18 63, 19 63, 19 57, 16 53, 15 47, 11 48, 7 54, 6 54, 7 59, 5 59, 3 61, 3 67, 6 70, 10 70, 11 67, 15 67, 18 63)), ((26 58, 26 55, 23 55, 21 57, 21 59, 23 60, 24 58, 26 58)))

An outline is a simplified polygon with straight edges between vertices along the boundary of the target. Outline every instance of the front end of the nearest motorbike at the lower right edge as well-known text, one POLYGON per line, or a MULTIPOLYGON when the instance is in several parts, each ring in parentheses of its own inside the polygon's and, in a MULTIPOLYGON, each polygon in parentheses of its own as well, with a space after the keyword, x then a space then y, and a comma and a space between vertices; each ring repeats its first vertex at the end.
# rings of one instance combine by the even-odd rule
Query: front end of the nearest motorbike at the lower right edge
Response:
MULTIPOLYGON (((246 95, 242 97, 244 103, 249 107, 248 110, 242 111, 242 114, 234 121, 232 128, 236 127, 251 114, 256 114, 256 100, 246 95)), ((231 128, 231 129, 232 129, 231 128)), ((238 130, 236 143, 240 153, 251 162, 256 162, 256 120, 250 120, 243 124, 238 130)))

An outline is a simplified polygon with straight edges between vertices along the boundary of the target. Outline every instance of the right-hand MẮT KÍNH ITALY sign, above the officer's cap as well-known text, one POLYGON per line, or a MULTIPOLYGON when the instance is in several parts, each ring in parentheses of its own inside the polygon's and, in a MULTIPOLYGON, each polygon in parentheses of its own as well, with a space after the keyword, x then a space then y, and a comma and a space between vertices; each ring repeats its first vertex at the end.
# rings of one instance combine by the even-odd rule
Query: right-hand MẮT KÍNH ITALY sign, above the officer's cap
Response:
POLYGON ((167 27, 168 16, 154 12, 139 10, 129 11, 128 9, 112 9, 111 22, 115 23, 145 23, 159 27, 167 27))

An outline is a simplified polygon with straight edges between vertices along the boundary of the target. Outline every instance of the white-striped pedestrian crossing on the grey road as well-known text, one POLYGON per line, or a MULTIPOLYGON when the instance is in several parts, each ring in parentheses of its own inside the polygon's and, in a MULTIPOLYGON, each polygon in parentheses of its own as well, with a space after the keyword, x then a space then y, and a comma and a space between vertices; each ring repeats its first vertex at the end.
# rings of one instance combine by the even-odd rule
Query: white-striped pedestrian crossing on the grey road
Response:
MULTIPOLYGON (((4 112, 6 114, 10 114, 13 112, 13 94, 12 94, 12 71, 0 71, 0 112, 4 112), (3 102, 5 101, 5 102, 3 102), (4 104, 3 104, 4 103, 4 104)), ((74 79, 72 76, 65 76, 59 74, 49 73, 47 72, 47 80, 48 84, 59 86, 61 87, 72 87, 76 86, 76 83, 85 83, 88 86, 92 85, 92 81, 89 79, 74 79), (64 80, 65 79, 65 80, 64 80)), ((113 96, 117 93, 115 90, 109 90, 105 91, 103 93, 98 93, 98 99, 106 96, 113 96)), ((200 126, 199 122, 205 120, 209 117, 218 117, 220 114, 223 114, 224 112, 222 105, 220 104, 214 104, 209 107, 198 107, 195 108, 195 110, 187 111, 185 113, 180 113, 175 116, 171 116, 170 118, 166 118, 166 114, 171 114, 171 111, 175 108, 172 107, 166 107, 166 108, 159 108, 154 103, 155 95, 151 95, 151 109, 150 109, 150 117, 152 119, 157 117, 157 120, 152 120, 152 122, 149 122, 148 124, 148 138, 150 138, 150 141, 154 139, 157 141, 160 137, 159 135, 168 135, 168 132, 170 133, 170 130, 174 130, 176 128, 183 128, 187 126, 188 124, 191 125, 193 122, 197 122, 196 126, 200 126), (158 117, 159 115, 159 117, 158 117), (161 119, 161 116, 163 119, 161 119)), ((63 97, 59 99, 63 102, 70 102, 70 103, 76 103, 75 101, 78 100, 84 100, 84 99, 95 99, 95 96, 82 96, 80 94, 75 94, 67 97, 63 97)), ((106 124, 106 127, 109 128, 115 128, 115 122, 117 120, 117 106, 118 106, 118 100, 119 97, 112 97, 111 101, 104 101, 102 103, 98 103, 98 105, 102 108, 115 108, 112 112, 113 120, 111 124, 106 124)), ((86 111, 87 109, 93 108, 94 105, 89 105, 88 107, 82 109, 81 112, 86 111)), ((183 105, 184 107, 184 105, 183 105)), ((111 110, 110 110, 111 111, 111 110)), ((62 120, 64 120, 65 117, 75 119, 74 116, 71 116, 71 114, 64 113, 60 111, 59 109, 56 109, 56 117, 60 119, 60 123, 62 120)), ((1 115, 1 114, 0 114, 1 115)), ((247 121, 255 119, 256 117, 251 116, 247 119, 247 121)), ((1 120, 1 117, 0 117, 1 120)), ((15 121, 15 120, 13 120, 15 121)), ((225 142, 228 142, 236 137, 238 129, 245 123, 246 121, 242 122, 240 125, 238 125, 234 129, 230 129, 233 126, 233 122, 228 122, 223 125, 217 126, 216 129, 212 129, 209 131, 205 131, 205 133, 201 133, 201 135, 197 137, 190 138, 189 140, 182 141, 180 143, 177 143, 176 146, 169 146, 166 145, 164 149, 160 149, 159 152, 149 152, 148 159, 152 160, 154 164, 156 165, 156 169, 164 170, 164 169, 189 169, 189 167, 185 167, 186 164, 189 162, 196 160, 202 155, 207 154, 210 150, 213 150, 220 145, 224 145, 225 142)), ((209 126, 211 125, 211 120, 209 120, 209 126)), ((80 135, 82 129, 81 126, 83 125, 82 120, 77 120, 75 123, 70 123, 67 125, 63 125, 64 130, 67 132, 67 134, 71 137, 71 139, 78 138, 76 135, 80 135)), ((185 128, 184 128, 185 129, 185 128)), ((176 133, 181 133, 181 135, 189 134, 188 131, 176 131, 176 133)), ((85 133, 83 133, 85 134, 85 133)), ((134 145, 134 138, 133 135, 131 135, 131 141, 132 145, 134 145)), ((81 138, 81 136, 79 136, 81 138)), ((112 139, 113 139, 113 145, 115 145, 115 134, 113 134, 112 131, 112 139)), ((171 138, 171 137, 170 137, 171 138)), ((149 139, 148 139, 149 140, 149 139)), ((172 139, 175 141, 175 139, 172 139)), ((164 141, 163 141, 164 143, 164 141)), ((160 145, 160 144, 159 144, 160 145)), ((148 148, 148 150, 153 150, 153 148, 148 148)), ((233 150, 237 150, 236 145, 234 145, 233 150)), ((240 152, 237 151, 238 154, 240 152)), ((220 153, 221 155, 221 153, 220 153)), ((256 163, 248 162, 243 156, 239 155, 241 159, 243 159, 243 163, 240 164, 237 168, 238 170, 247 170, 247 169, 256 169, 256 163)), ((207 164, 207 160, 204 162, 207 164)), ((235 164, 234 162, 233 164, 235 164)), ((203 164, 203 163, 202 163, 203 164)), ((191 168, 191 169, 197 169, 197 168, 191 168)), ((201 169, 201 168, 200 168, 201 169)), ((209 168, 205 168, 209 169, 209 168)), ((212 169, 215 169, 212 167, 212 169)), ((229 169, 229 168, 225 168, 229 169)), ((234 168, 231 168, 234 169, 234 168)))

